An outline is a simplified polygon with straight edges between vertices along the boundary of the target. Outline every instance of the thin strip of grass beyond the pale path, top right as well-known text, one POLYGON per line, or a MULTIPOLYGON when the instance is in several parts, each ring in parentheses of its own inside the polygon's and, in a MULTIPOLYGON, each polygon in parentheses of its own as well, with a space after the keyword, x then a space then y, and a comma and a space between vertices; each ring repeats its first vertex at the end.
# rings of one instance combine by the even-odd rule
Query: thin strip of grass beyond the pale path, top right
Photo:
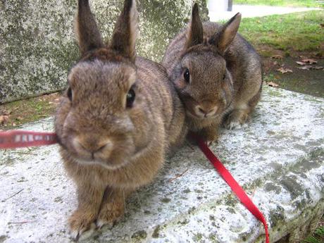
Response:
POLYGON ((289 6, 289 7, 323 7, 323 3, 315 0, 234 0, 234 4, 289 6))

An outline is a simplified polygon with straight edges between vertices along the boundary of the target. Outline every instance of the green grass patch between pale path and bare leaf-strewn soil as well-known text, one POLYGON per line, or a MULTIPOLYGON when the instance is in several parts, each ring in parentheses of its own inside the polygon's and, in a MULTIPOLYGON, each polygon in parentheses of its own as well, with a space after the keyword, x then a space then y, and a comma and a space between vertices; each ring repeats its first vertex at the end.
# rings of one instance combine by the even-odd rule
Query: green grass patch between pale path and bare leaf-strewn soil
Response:
MULTIPOLYGON (((324 54, 324 11, 243 18, 239 33, 256 49, 318 51, 324 54)), ((261 53, 262 54, 262 53, 261 53)))

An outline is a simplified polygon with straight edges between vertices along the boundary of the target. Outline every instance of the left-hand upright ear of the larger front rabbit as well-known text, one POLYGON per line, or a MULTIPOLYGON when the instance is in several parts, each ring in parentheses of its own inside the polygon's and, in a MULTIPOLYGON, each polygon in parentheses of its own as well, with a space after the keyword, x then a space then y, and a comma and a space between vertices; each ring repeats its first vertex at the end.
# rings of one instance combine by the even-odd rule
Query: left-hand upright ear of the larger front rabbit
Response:
POLYGON ((96 20, 90 10, 89 0, 79 0, 75 30, 81 54, 104 46, 96 20))

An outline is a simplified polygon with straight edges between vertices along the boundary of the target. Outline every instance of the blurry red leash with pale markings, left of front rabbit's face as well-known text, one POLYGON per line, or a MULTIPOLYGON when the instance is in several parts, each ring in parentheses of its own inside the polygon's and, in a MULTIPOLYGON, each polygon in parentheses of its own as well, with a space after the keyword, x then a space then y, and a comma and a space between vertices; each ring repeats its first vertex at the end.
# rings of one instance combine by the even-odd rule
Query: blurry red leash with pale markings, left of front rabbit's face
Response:
POLYGON ((57 137, 54 132, 29 132, 21 130, 0 132, 0 149, 15 149, 56 143, 57 137))

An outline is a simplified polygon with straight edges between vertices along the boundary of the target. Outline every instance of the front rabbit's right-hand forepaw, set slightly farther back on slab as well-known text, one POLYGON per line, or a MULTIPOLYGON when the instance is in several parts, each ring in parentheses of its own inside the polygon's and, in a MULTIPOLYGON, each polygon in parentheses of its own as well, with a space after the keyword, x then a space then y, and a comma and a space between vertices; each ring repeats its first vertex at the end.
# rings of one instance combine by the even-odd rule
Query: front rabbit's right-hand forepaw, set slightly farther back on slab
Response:
POLYGON ((124 214, 124 204, 121 201, 109 201, 103 205, 96 220, 96 227, 108 225, 112 228, 114 223, 124 214))

